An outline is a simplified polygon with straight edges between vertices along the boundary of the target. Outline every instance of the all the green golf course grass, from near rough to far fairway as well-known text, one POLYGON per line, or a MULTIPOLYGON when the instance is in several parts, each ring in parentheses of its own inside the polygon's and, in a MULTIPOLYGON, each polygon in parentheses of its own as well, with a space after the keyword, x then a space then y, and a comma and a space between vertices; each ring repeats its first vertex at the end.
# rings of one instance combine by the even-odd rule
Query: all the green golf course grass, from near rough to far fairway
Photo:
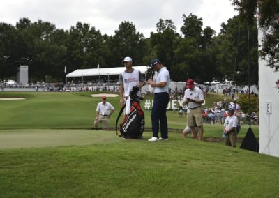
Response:
MULTIPOLYGON (((142 140, 123 140, 114 130, 91 130, 100 101, 91 93, 0 97, 27 98, 0 100, 0 197, 279 196, 279 158, 181 139, 180 132, 148 142, 150 131, 142 140)), ((208 96, 207 104, 216 97, 208 96)), ((116 107, 114 128, 119 98, 108 101, 116 107)), ((150 111, 145 114, 150 128, 150 111)), ((169 111, 167 117, 169 128, 186 125, 185 116, 169 111)), ((204 137, 221 137, 221 125, 204 128, 204 137)), ((252 129, 258 137, 258 128, 252 129)), ((243 126, 240 137, 246 131, 243 126)))

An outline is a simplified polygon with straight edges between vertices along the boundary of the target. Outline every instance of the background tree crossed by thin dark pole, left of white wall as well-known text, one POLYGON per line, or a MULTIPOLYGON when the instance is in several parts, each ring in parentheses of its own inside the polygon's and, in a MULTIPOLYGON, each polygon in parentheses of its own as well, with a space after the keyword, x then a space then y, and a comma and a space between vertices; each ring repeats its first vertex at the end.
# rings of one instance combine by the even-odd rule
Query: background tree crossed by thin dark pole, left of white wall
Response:
MULTIPOLYGON (((255 20, 255 18, 254 18, 255 20)), ((257 26, 249 31, 250 82, 258 84, 257 26)), ((247 23, 235 16, 222 24, 220 34, 214 38, 218 79, 234 80, 237 85, 248 84, 248 32, 247 23)))

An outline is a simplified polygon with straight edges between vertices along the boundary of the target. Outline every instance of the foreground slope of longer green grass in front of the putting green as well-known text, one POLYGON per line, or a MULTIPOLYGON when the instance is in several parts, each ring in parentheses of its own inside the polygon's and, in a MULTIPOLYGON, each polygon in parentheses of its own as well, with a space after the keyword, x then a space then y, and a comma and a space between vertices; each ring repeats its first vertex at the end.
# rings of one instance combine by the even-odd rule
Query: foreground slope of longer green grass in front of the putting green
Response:
POLYGON ((278 158, 178 133, 168 142, 108 134, 84 146, 0 149, 1 197, 278 196, 278 158))

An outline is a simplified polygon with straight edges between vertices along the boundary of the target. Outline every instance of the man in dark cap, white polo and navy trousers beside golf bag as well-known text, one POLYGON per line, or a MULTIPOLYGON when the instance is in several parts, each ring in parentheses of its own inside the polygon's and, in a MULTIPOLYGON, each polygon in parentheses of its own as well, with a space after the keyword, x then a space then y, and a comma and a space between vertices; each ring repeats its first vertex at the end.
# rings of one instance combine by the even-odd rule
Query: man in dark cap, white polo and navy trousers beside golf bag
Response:
POLYGON ((153 59, 150 63, 151 68, 158 72, 156 81, 148 80, 148 84, 154 88, 154 102, 151 111, 151 122, 153 135, 149 141, 154 142, 157 140, 168 140, 167 131, 167 104, 169 103, 169 71, 159 59, 153 59), (158 137, 160 125, 161 137, 158 137))

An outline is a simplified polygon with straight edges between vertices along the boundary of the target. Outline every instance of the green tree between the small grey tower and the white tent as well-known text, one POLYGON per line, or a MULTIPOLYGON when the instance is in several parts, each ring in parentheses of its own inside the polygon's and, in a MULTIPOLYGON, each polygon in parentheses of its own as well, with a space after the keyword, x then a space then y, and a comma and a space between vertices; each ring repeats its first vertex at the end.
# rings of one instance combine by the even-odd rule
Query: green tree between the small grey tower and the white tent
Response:
POLYGON ((48 76, 53 82, 63 82, 64 63, 66 61, 67 36, 63 30, 56 30, 50 22, 34 22, 30 29, 34 45, 31 63, 33 78, 45 79, 48 76))

